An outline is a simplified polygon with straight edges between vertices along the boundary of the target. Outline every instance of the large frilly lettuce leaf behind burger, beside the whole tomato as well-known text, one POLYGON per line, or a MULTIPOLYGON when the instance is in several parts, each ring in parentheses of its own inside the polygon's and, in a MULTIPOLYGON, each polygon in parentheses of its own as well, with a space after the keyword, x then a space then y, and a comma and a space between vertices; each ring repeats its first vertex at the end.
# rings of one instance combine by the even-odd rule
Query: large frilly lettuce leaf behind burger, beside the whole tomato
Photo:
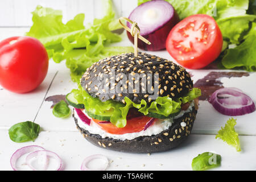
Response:
POLYGON ((42 6, 32 12, 33 25, 27 36, 39 39, 46 47, 49 58, 56 63, 66 61, 71 70, 71 78, 79 83, 82 73, 94 62, 108 56, 133 52, 132 47, 110 47, 121 41, 121 36, 113 30, 121 28, 112 9, 111 0, 102 0, 105 16, 94 19, 84 26, 84 14, 78 14, 66 24, 62 22, 60 10, 42 6))

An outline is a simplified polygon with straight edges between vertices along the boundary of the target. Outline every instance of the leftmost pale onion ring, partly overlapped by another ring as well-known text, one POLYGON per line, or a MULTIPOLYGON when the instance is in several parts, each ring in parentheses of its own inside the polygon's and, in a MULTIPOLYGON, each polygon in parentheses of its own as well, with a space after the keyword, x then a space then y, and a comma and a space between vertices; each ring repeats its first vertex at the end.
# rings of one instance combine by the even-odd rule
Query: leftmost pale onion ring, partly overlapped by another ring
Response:
POLYGON ((40 146, 26 146, 26 147, 19 148, 11 156, 11 159, 10 159, 11 168, 13 168, 14 171, 18 171, 18 168, 16 168, 16 162, 22 155, 28 154, 33 151, 43 151, 43 150, 45 149, 40 146))

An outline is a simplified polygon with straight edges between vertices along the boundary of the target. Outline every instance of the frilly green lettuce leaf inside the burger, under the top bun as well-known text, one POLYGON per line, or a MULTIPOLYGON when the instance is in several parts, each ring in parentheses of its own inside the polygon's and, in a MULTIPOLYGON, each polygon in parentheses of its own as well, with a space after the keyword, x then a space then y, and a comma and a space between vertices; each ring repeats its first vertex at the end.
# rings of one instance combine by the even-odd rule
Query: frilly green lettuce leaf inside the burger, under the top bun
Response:
POLYGON ((201 96, 201 90, 193 88, 188 94, 184 97, 180 97, 176 101, 172 100, 170 97, 158 97, 155 101, 151 102, 150 105, 147 105, 147 102, 144 100, 136 104, 128 97, 125 97, 126 104, 113 100, 101 102, 98 98, 90 96, 81 85, 79 85, 79 89, 73 89, 72 93, 79 104, 84 104, 86 110, 92 114, 110 117, 110 122, 117 127, 126 126, 126 116, 131 107, 137 108, 138 111, 144 115, 150 112, 167 117, 170 114, 179 112, 181 103, 191 102, 201 96))

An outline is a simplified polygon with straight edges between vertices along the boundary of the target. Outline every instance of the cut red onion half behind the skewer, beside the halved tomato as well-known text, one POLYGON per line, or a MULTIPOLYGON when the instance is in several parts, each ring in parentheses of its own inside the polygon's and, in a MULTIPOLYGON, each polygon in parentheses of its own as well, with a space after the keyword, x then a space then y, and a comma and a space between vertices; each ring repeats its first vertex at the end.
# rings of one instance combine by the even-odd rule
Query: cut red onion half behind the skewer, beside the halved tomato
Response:
MULTIPOLYGON (((166 39, 171 28, 179 22, 179 16, 174 7, 166 1, 148 1, 135 8, 129 19, 138 23, 140 35, 151 42, 148 45, 138 40, 138 47, 148 51, 159 51, 166 48, 166 39)), ((131 28, 131 23, 127 22, 131 28)), ((127 31, 128 38, 134 43, 134 38, 127 31)))

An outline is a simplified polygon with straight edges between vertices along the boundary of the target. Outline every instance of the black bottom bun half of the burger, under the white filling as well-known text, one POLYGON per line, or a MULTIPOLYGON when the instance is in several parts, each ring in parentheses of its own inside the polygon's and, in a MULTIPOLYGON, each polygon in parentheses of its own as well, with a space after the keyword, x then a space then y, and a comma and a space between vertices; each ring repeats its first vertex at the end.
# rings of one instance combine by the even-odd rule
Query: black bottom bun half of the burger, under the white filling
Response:
POLYGON ((167 151, 179 146, 191 133, 196 114, 197 110, 193 107, 191 112, 184 113, 182 117, 174 119, 174 123, 167 130, 157 135, 141 136, 131 140, 102 138, 101 135, 91 134, 77 124, 75 114, 73 114, 73 118, 82 136, 98 147, 121 152, 151 153, 167 151), (183 127, 184 123, 181 126, 181 122, 185 123, 185 127, 183 127))

